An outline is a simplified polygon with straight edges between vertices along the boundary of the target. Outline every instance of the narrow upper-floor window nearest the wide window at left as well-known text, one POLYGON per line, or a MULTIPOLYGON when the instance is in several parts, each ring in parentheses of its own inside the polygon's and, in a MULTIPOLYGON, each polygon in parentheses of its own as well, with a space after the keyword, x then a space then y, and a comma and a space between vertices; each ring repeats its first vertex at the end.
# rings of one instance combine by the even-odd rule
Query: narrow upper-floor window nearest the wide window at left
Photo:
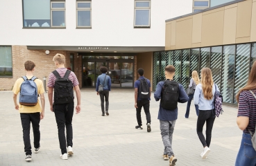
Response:
POLYGON ((80 28, 92 27, 91 1, 78 1, 76 3, 76 26, 80 28))

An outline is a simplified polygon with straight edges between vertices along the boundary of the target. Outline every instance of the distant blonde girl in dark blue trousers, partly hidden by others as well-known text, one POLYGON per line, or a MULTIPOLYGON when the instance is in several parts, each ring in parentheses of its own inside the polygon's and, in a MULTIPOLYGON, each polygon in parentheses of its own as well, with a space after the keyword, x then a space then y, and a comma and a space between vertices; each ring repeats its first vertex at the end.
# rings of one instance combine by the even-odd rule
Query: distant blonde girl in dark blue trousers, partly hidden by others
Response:
MULTIPOLYGON (((190 79, 189 88, 193 88, 194 91, 196 90, 196 85, 198 85, 200 82, 197 71, 192 71, 192 77, 190 79)), ((189 101, 187 101, 187 110, 185 113, 185 118, 189 118, 189 110, 191 105, 191 100, 194 98, 194 93, 189 94, 189 101)), ((196 108, 196 116, 198 116, 198 105, 195 104, 196 108)))

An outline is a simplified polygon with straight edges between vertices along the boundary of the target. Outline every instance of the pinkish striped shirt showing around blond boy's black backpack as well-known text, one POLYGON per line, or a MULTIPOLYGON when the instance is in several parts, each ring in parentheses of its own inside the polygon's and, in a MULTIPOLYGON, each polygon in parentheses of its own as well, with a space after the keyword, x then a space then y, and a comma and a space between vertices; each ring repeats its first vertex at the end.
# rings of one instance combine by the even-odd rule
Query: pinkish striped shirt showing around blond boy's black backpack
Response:
MULTIPOLYGON (((57 68, 56 71, 58 71, 58 73, 60 74, 60 77, 64 77, 67 71, 67 68, 57 68)), ((53 88, 55 84, 55 80, 56 80, 56 76, 53 73, 50 73, 47 86, 53 88)), ((77 86, 79 84, 77 77, 73 71, 71 71, 69 75, 69 80, 71 80, 71 82, 73 83, 73 86, 77 86)))

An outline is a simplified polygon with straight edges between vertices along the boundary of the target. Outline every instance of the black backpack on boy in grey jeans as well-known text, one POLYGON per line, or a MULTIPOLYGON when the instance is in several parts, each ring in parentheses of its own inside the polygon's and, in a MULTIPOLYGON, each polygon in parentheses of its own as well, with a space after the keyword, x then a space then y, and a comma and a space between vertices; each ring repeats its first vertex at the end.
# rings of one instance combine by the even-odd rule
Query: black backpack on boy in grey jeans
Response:
POLYGON ((161 93, 161 107, 167 110, 174 110, 177 108, 179 98, 179 84, 176 81, 166 80, 162 87, 161 93))

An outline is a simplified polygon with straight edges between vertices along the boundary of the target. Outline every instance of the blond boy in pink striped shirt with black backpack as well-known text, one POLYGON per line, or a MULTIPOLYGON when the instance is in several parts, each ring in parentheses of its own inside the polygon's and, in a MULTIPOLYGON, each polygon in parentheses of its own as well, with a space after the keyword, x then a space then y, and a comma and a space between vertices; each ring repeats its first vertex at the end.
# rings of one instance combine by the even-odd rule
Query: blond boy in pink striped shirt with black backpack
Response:
POLYGON ((56 54, 53 57, 53 62, 57 66, 56 71, 49 75, 49 82, 47 84, 48 97, 51 111, 54 112, 56 123, 58 126, 58 138, 60 142, 61 155, 60 158, 67 160, 67 153, 69 155, 73 152, 73 128, 72 118, 74 114, 74 91, 76 91, 77 105, 76 114, 80 113, 80 89, 79 83, 74 72, 65 68, 65 56, 56 54), (53 101, 54 89, 54 101, 53 101), (67 134, 67 144, 65 137, 65 126, 67 134))

